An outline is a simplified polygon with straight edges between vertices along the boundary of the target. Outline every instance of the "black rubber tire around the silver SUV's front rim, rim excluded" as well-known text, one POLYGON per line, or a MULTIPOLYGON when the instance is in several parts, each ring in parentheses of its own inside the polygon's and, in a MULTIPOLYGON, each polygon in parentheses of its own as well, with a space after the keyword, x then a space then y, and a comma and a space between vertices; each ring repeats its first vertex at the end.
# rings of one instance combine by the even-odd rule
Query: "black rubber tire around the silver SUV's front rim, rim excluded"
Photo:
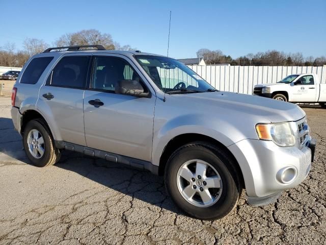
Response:
POLYGON ((168 160, 165 169, 167 191, 175 204, 189 216, 205 220, 222 218, 236 206, 242 191, 233 164, 232 159, 214 145, 205 142, 188 143, 176 150, 168 160), (183 163, 192 159, 208 162, 219 172, 223 184, 222 194, 211 206, 197 207, 187 202, 178 189, 178 170, 183 163))

